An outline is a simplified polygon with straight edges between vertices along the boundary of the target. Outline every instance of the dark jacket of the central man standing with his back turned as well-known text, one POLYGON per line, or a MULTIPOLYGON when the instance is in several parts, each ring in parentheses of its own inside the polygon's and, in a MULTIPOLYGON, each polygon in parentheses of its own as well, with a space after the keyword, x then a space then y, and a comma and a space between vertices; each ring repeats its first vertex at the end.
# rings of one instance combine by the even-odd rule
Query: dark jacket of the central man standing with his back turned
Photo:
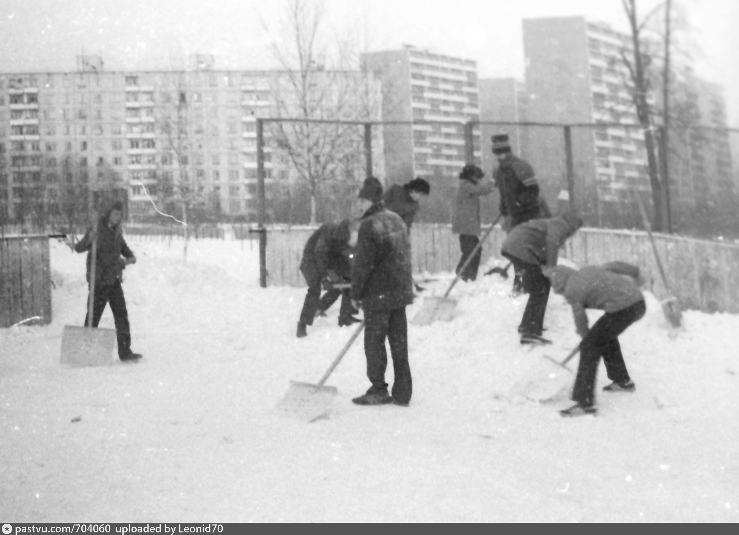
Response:
POLYGON ((365 310, 394 310, 413 302, 411 246, 406 225, 381 203, 359 227, 351 297, 365 310))

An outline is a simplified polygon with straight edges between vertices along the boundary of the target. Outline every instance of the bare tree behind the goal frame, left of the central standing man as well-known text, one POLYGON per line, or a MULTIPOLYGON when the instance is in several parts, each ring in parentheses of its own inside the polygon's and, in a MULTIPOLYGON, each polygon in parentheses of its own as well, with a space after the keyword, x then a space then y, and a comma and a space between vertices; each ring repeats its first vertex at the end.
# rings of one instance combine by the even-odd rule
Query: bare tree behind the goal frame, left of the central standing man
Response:
MULTIPOLYGON (((279 122, 273 137, 279 151, 310 193, 310 223, 316 224, 319 188, 341 180, 355 180, 361 154, 361 125, 339 121, 366 121, 376 117, 372 74, 352 64, 355 45, 329 29, 320 1, 286 0, 271 50, 280 71, 273 78, 277 117, 301 121, 279 122), (320 120, 323 122, 309 122, 320 120), (347 172, 351 164, 351 172, 347 172)), ((358 55, 357 55, 358 56, 358 55)))

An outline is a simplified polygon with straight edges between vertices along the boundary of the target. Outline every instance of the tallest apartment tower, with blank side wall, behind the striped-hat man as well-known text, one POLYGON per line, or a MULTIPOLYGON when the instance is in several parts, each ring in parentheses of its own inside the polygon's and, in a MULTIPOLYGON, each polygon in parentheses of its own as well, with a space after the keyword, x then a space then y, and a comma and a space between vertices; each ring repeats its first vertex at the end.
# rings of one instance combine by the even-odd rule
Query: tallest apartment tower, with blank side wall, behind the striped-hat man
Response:
MULTIPOLYGON (((590 224, 630 225, 632 192, 646 191, 644 134, 638 125, 621 52, 628 35, 583 17, 523 21, 526 119, 531 122, 603 124, 572 129, 574 202, 590 224)), ((556 194, 567 190, 562 129, 524 130, 522 144, 556 194)))

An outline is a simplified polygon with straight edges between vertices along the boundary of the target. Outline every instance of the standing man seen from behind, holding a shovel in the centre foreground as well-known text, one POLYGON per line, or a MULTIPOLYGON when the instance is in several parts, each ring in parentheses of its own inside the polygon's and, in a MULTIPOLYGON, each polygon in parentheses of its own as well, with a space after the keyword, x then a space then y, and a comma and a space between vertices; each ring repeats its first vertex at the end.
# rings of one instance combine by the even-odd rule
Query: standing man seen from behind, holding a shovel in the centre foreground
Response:
POLYGON ((357 405, 408 406, 412 378, 406 306, 413 302, 411 248, 403 219, 384 207, 382 193, 380 181, 368 177, 358 195, 366 210, 354 251, 350 293, 354 307, 364 310, 364 355, 371 385, 352 401, 357 405), (385 341, 395 376, 392 392, 385 382, 385 341))

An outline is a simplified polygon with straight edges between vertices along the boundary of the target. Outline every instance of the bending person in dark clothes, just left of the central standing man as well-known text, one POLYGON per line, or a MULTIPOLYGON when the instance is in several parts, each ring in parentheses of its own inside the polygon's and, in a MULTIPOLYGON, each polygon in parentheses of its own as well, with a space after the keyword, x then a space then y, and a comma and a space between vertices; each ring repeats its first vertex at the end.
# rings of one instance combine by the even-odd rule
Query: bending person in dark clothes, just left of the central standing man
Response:
POLYGON ((356 245, 359 222, 344 219, 321 225, 310 235, 303 248, 300 272, 308 284, 308 290, 300 312, 296 336, 307 336, 307 326, 313 325, 313 318, 325 316, 326 310, 341 296, 338 311, 338 326, 345 327, 357 321, 348 289, 338 289, 333 285, 348 283, 352 272, 350 255, 356 245), (321 297, 321 287, 326 293, 321 297))

